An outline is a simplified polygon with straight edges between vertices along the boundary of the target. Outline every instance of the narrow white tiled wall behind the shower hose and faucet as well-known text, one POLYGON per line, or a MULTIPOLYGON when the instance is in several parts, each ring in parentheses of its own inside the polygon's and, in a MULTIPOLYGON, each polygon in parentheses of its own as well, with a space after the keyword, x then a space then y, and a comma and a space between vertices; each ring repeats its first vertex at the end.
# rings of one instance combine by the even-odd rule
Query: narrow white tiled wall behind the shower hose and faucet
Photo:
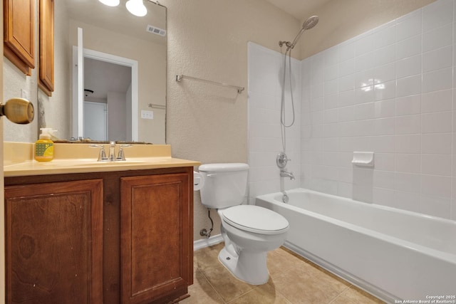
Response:
MULTIPOLYGON (((291 60, 291 83, 295 122, 286 130, 286 152, 291 159, 287 170, 296 179, 280 178, 276 155, 283 151, 281 142, 280 107, 284 58, 255 43, 248 47, 249 103, 249 201, 255 196, 301 187, 301 63, 291 60)), ((291 122, 289 61, 286 70, 286 124, 291 122)))

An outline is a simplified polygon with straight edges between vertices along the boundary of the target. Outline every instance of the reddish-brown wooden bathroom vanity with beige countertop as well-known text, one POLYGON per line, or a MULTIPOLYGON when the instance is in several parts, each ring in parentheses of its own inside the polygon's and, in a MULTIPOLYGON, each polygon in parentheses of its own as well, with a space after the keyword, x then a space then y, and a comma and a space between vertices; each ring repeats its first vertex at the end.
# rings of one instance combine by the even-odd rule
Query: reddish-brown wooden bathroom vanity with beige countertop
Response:
MULTIPOLYGON (((69 146, 56 145, 56 157, 69 146)), ((103 163, 76 146, 94 156, 5 162, 7 303, 186 298, 199 162, 141 145, 140 157, 103 163)))

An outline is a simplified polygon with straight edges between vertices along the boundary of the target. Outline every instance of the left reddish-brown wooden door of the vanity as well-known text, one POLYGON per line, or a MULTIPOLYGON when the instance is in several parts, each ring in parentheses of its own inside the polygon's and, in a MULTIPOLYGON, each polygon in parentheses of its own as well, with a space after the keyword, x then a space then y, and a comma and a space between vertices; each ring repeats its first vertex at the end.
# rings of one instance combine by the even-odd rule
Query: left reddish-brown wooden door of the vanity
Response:
POLYGON ((6 303, 103 303, 103 181, 5 187, 6 303))

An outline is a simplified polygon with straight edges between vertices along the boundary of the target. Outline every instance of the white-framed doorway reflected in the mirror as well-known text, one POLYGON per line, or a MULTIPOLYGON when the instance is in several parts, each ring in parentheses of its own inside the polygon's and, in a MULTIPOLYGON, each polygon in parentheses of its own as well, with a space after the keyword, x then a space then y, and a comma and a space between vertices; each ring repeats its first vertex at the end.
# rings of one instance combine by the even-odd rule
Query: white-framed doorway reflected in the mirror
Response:
POLYGON ((137 141, 138 61, 84 48, 83 62, 80 64, 83 66, 83 88, 80 88, 81 85, 78 84, 78 48, 74 46, 72 136, 76 138, 89 137, 88 134, 92 132, 86 132, 85 122, 87 120, 84 116, 87 111, 83 109, 85 103, 79 105, 81 101, 78 101, 79 90, 87 89, 93 93, 86 96, 84 100, 108 104, 107 140, 137 141), (128 74, 128 77, 125 77, 125 73, 128 74), (130 81, 130 85, 125 85, 125 82, 122 82, 124 78, 130 79, 127 80, 130 81), (76 112, 75 109, 82 110, 76 112), (78 118, 79 115, 83 116, 82 119, 81 117, 78 118), (78 123, 83 123, 82 132, 78 123))

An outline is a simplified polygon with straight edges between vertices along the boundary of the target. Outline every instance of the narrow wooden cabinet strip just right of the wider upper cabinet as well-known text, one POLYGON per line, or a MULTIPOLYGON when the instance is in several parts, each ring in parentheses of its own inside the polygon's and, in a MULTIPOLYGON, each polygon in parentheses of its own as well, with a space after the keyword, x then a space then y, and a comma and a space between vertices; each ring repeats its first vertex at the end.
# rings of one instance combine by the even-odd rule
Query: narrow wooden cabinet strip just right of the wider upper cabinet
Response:
POLYGON ((54 90, 54 0, 40 0, 38 87, 48 96, 51 96, 54 90))

